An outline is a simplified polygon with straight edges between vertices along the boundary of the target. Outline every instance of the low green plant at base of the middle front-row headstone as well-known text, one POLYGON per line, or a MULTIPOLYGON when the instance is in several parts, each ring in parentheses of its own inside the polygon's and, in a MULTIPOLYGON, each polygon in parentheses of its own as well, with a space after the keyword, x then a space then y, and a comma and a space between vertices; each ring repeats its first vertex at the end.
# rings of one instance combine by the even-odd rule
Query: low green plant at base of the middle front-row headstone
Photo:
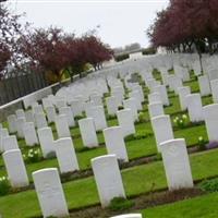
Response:
POLYGON ((125 199, 123 197, 114 197, 109 205, 109 209, 117 210, 125 210, 134 206, 134 202, 130 199, 125 199))

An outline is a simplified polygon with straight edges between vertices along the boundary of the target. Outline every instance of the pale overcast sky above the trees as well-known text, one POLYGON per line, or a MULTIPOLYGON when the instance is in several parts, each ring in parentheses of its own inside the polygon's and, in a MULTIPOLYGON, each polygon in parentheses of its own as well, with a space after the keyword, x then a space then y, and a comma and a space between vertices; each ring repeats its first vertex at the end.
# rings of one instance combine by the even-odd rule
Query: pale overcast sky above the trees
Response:
POLYGON ((98 35, 111 47, 148 45, 146 29, 168 0, 9 0, 16 13, 37 27, 50 25, 81 35, 99 26, 98 35))

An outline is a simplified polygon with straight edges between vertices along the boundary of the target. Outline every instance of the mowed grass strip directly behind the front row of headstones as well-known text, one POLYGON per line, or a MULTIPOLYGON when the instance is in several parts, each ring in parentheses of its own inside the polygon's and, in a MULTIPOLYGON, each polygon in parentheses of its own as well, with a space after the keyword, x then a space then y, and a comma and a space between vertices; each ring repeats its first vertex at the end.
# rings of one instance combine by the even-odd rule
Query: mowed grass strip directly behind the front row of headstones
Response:
MULTIPOLYGON (((218 175, 218 149, 195 154, 190 157, 194 180, 218 175)), ((158 191, 167 187, 161 161, 129 168, 122 171, 128 196, 158 191)), ((63 184, 69 209, 81 208, 99 203, 93 177, 63 184)), ((8 217, 34 217, 40 215, 35 191, 0 197, 0 213, 8 217)))

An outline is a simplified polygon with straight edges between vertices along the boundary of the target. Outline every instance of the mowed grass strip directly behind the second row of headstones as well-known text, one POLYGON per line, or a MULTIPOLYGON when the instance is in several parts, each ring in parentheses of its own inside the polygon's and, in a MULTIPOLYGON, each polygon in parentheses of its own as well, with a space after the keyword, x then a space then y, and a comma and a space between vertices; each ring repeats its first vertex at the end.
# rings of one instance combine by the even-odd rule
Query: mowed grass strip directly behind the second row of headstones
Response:
MULTIPOLYGON (((174 132, 174 137, 185 138, 187 146, 197 144, 198 136, 203 136, 205 140, 207 140, 207 133, 204 125, 193 126, 193 128, 174 132)), ((130 141, 130 142, 126 142, 125 145, 126 145, 130 160, 157 154, 156 142, 155 142, 154 136, 143 138, 143 140, 137 140, 137 141, 130 141)), ((77 153, 76 156, 78 159, 80 169, 82 170, 89 169, 92 158, 106 155, 106 154, 107 154, 107 149, 105 146, 100 146, 99 148, 89 149, 83 153, 77 153)), ((43 168, 50 168, 50 167, 58 168, 58 160, 56 158, 44 160, 36 164, 26 165, 27 173, 31 181, 33 180, 32 172, 43 169, 43 168)), ((0 170, 0 177, 2 175, 7 175, 4 168, 1 168, 0 170)))

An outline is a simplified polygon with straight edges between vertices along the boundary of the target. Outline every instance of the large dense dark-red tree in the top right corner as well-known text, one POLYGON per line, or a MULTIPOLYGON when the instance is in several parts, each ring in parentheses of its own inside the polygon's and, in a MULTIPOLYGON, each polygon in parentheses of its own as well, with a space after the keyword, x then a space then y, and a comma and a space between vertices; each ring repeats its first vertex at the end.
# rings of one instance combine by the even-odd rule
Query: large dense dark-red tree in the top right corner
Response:
POLYGON ((218 40, 218 1, 216 0, 171 0, 169 7, 159 12, 148 29, 154 46, 191 51, 204 51, 206 45, 213 52, 218 40))

